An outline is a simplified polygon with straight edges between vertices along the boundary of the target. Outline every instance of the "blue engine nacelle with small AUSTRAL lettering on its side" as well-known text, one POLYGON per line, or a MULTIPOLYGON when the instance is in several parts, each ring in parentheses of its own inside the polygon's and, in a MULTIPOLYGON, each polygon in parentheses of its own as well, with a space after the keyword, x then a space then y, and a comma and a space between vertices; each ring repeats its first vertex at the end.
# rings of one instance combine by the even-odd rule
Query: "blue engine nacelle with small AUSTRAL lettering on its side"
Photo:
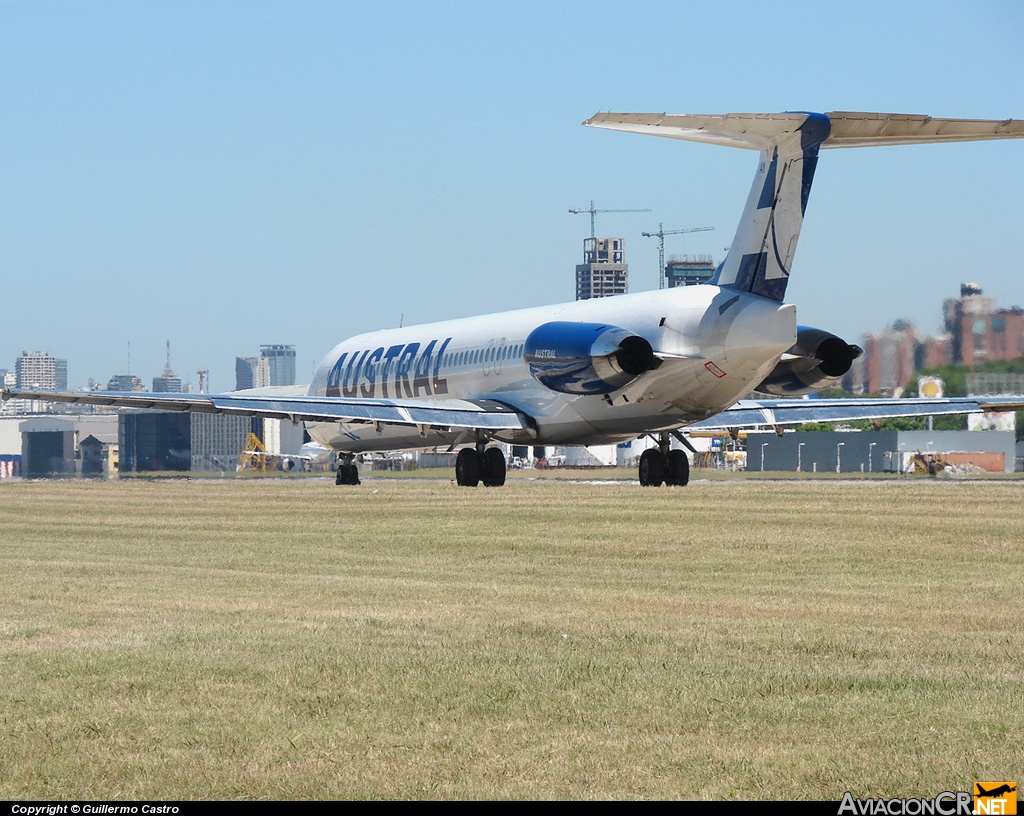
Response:
POLYGON ((626 329, 594 323, 546 323, 526 338, 529 373, 564 394, 609 394, 660 360, 644 338, 626 329))

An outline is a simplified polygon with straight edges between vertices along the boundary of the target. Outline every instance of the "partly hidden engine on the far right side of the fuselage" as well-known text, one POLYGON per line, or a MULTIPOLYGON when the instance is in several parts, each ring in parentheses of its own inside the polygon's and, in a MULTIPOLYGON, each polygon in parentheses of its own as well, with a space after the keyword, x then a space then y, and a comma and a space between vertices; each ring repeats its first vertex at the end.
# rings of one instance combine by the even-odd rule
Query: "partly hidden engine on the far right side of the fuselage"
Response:
POLYGON ((836 335, 797 327, 797 342, 756 390, 776 396, 813 394, 835 385, 864 350, 836 335))

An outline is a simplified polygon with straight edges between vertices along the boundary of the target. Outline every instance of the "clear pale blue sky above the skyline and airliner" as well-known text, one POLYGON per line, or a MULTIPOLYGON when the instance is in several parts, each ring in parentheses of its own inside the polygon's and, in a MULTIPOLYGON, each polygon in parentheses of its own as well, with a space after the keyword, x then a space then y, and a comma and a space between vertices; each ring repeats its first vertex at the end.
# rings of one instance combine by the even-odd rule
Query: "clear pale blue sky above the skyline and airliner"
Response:
MULTIPOLYGON (((233 387, 292 343, 570 300, 589 218, 711 254, 756 155, 580 127, 599 110, 1024 118, 1024 3, 0 0, 0 368, 233 387)), ((857 340, 1024 303, 1024 140, 822 155, 788 299, 857 340)))

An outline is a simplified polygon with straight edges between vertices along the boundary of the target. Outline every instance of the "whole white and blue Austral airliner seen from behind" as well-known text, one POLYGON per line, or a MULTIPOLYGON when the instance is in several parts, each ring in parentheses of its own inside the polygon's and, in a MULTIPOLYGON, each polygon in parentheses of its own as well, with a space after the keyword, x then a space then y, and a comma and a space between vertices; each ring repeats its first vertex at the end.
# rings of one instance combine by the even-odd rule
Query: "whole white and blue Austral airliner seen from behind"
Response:
POLYGON ((861 349, 800 326, 784 302, 818 153, 1024 137, 1021 120, 873 113, 598 113, 584 125, 759 153, 735 238, 712 280, 382 330, 336 345, 305 395, 5 390, 3 398, 285 418, 338 453, 445 446, 460 485, 505 483, 492 442, 589 445, 650 436, 647 486, 685 485, 684 429, 1024 410, 1021 398, 794 399, 833 385, 861 349), (750 400, 756 389, 780 399, 750 400))

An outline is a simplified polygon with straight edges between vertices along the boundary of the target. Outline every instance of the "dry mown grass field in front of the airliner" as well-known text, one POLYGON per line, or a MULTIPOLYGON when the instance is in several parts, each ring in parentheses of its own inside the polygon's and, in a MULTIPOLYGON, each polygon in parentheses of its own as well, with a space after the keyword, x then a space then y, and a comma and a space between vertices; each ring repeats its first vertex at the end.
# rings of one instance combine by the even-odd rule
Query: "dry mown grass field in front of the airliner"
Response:
POLYGON ((0 799, 1019 779, 1024 483, 0 484, 0 799))

